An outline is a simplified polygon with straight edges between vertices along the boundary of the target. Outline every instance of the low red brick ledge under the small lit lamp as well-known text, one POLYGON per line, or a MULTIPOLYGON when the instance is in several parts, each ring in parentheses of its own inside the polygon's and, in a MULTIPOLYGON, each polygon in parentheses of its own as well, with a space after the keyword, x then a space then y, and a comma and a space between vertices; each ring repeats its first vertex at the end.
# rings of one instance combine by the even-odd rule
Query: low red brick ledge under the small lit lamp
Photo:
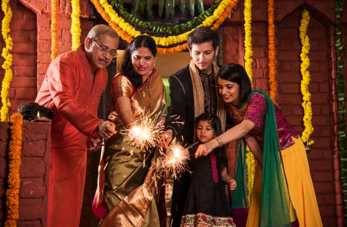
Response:
MULTIPOLYGON (((46 227, 51 124, 23 123, 18 227, 46 227)), ((9 123, 0 122, 0 226, 6 220, 9 123)))

